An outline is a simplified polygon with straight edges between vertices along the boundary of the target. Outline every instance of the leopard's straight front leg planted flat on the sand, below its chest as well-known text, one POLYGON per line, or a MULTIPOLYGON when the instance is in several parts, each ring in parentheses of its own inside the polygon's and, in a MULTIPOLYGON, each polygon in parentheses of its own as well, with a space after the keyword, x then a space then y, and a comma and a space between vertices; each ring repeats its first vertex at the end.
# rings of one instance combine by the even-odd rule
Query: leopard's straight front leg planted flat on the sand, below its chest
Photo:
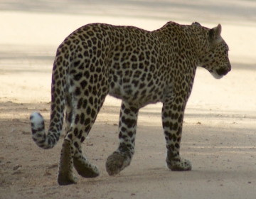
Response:
POLYGON ((190 171, 191 162, 181 158, 179 150, 181 146, 181 133, 183 114, 186 102, 182 98, 176 98, 163 104, 162 122, 166 139, 167 157, 166 163, 171 171, 190 171))

